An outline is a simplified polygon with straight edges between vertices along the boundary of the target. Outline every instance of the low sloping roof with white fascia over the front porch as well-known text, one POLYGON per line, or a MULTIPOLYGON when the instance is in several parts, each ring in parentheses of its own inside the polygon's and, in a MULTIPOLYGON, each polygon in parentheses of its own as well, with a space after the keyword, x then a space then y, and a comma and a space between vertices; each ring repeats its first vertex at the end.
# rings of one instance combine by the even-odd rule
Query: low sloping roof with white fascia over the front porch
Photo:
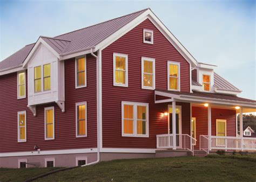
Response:
MULTIPOLYGON (((208 102, 223 105, 232 106, 245 106, 256 109, 256 101, 238 97, 235 95, 217 94, 217 93, 206 93, 206 92, 175 92, 169 90, 155 90, 155 95, 169 97, 166 102, 170 102, 170 99, 181 101, 181 102, 208 102)), ((164 100, 163 100, 164 101, 164 100)), ((160 102, 156 102, 160 103, 160 102)))

